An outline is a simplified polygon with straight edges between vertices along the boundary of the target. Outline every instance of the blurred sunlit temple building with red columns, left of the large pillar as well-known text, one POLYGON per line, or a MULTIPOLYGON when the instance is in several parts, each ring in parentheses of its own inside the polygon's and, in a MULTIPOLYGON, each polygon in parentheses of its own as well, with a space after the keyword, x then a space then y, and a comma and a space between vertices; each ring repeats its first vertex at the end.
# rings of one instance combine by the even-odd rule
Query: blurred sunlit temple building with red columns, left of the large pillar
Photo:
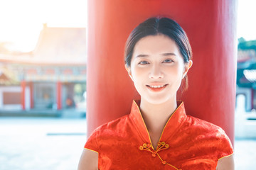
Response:
POLYGON ((60 111, 81 106, 86 60, 85 28, 44 24, 32 52, 0 55, 0 110, 60 111))

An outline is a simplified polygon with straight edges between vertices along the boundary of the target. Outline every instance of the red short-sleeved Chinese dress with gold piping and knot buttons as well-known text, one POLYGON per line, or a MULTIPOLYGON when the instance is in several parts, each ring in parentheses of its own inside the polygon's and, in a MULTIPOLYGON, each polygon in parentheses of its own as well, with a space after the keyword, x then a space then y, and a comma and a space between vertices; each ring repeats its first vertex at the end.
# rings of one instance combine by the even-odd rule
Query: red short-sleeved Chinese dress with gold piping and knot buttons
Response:
POLYGON ((186 115, 182 103, 171 115, 153 148, 134 101, 129 115, 101 125, 85 149, 99 155, 99 169, 216 169, 218 159, 233 154, 225 132, 216 125, 186 115))

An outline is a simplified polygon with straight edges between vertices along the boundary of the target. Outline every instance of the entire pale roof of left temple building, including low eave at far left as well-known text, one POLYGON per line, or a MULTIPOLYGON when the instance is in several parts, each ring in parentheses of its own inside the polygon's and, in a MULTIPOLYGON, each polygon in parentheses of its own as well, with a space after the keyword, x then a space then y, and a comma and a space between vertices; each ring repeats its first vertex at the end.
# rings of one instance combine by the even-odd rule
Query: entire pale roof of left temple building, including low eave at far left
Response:
POLYGON ((85 28, 48 28, 44 26, 33 52, 3 55, 0 62, 39 65, 86 65, 85 28))

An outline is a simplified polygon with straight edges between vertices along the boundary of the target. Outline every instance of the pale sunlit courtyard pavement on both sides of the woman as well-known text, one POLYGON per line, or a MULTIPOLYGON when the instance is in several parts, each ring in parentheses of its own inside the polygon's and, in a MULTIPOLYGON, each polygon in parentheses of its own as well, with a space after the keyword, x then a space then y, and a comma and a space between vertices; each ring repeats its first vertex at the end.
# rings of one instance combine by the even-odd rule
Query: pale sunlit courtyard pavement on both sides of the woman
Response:
MULTIPOLYGON (((1 170, 75 170, 86 140, 85 119, 1 118, 1 170)), ((235 169, 256 167, 256 140, 235 140, 235 169)))

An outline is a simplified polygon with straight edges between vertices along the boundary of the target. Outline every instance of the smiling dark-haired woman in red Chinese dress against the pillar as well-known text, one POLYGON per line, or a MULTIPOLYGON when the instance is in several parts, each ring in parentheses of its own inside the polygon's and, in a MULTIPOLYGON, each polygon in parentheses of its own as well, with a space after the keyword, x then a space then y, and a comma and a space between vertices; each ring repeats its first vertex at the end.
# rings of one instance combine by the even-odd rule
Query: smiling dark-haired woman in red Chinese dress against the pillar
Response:
POLYGON ((176 101, 191 66, 191 46, 178 23, 139 24, 127 40, 125 67, 141 100, 92 133, 78 169, 234 169, 225 132, 186 115, 176 101))

